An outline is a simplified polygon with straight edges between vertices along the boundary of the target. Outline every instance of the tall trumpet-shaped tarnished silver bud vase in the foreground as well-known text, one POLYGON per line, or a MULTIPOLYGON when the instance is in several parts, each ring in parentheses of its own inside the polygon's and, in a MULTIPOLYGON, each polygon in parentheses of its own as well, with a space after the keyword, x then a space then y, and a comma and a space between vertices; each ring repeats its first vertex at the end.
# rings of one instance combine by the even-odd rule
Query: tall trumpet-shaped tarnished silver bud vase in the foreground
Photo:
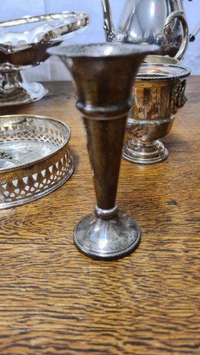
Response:
POLYGON ((76 85, 97 203, 76 225, 74 241, 94 259, 122 258, 140 242, 137 223, 118 210, 115 200, 132 84, 144 57, 157 49, 101 43, 48 50, 61 58, 76 85))

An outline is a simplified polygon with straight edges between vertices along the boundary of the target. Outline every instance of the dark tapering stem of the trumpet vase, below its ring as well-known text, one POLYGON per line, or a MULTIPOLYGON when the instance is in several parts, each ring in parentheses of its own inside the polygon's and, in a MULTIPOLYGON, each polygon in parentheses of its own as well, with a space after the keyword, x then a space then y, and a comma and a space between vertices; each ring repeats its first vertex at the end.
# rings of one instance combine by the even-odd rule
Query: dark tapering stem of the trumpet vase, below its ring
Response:
POLYGON ((97 206, 115 207, 126 115, 111 120, 83 118, 97 206))

